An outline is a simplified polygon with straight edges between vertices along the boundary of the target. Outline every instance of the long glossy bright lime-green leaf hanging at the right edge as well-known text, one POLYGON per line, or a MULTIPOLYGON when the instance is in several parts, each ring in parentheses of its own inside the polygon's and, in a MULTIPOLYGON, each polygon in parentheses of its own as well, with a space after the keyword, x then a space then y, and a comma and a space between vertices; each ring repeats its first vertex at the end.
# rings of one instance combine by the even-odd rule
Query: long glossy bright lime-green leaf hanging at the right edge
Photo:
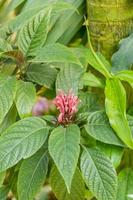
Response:
POLYGON ((126 92, 117 78, 107 79, 105 108, 110 124, 119 138, 133 148, 131 130, 126 117, 126 92))

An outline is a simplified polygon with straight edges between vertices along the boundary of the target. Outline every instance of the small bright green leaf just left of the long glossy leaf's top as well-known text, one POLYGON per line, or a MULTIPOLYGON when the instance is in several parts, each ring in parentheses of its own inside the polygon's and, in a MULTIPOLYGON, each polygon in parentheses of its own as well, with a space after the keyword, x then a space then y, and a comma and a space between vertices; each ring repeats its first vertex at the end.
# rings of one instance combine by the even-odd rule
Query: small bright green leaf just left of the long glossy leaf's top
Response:
POLYGON ((91 72, 86 72, 84 73, 81 84, 85 86, 90 86, 90 87, 99 87, 99 88, 104 88, 104 81, 100 79, 99 77, 95 76, 91 72))

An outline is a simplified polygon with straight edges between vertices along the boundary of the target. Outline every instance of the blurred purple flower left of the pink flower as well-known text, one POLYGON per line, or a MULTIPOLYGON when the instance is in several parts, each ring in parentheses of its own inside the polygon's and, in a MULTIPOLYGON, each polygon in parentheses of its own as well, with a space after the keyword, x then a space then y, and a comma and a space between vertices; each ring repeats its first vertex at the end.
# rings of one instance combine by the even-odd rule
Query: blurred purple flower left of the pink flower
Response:
POLYGON ((47 113, 49 110, 49 102, 44 97, 38 97, 36 103, 34 104, 32 108, 32 114, 34 116, 40 116, 44 113, 47 113))

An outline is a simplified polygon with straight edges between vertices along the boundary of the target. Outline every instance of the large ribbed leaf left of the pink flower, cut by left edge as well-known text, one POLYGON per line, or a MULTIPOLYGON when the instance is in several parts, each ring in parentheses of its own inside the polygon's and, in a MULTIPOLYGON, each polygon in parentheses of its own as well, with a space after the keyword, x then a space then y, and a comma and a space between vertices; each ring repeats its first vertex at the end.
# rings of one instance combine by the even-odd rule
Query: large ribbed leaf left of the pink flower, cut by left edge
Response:
POLYGON ((32 156, 46 141, 48 127, 38 117, 22 119, 0 137, 0 172, 32 156))

